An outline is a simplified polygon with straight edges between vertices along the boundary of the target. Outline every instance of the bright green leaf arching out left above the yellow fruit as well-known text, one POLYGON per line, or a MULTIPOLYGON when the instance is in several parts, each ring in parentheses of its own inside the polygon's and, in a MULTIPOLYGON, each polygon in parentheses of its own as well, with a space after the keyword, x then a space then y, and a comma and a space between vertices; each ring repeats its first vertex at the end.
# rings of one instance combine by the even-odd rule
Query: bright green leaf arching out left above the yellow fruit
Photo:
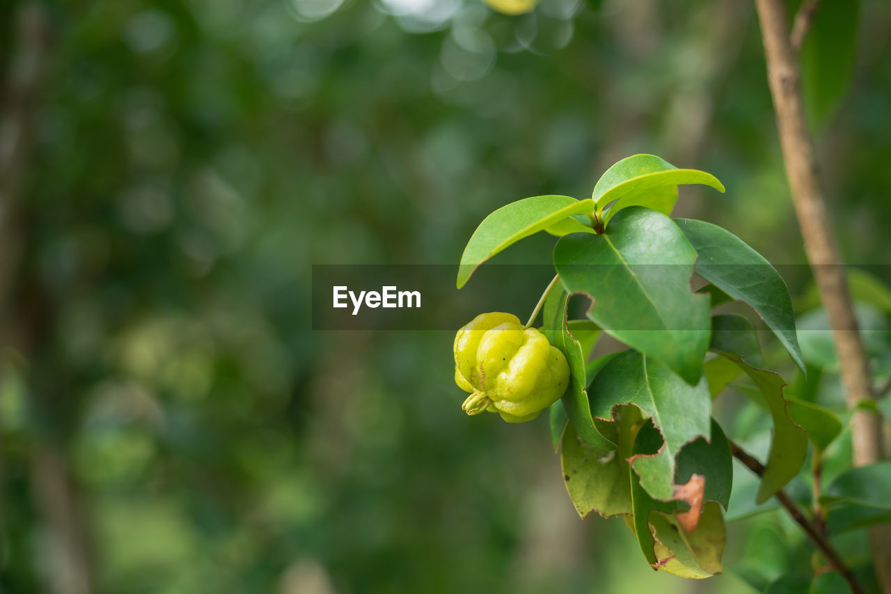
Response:
POLYGON ((574 214, 593 213, 591 200, 576 200, 570 196, 533 196, 506 204, 495 210, 470 236, 458 267, 457 286, 460 289, 474 270, 511 243, 552 227, 561 219, 574 214))

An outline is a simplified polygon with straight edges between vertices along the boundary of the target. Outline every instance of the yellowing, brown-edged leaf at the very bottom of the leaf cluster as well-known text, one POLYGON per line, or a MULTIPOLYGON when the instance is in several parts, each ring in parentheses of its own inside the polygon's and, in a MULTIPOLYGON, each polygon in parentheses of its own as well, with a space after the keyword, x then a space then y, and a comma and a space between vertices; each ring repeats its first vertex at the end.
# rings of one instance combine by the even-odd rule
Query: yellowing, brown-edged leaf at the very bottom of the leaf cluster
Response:
POLYGON ((656 569, 691 579, 721 573, 726 532, 717 503, 706 504, 693 532, 684 531, 675 516, 658 512, 650 515, 650 525, 656 539, 656 569))

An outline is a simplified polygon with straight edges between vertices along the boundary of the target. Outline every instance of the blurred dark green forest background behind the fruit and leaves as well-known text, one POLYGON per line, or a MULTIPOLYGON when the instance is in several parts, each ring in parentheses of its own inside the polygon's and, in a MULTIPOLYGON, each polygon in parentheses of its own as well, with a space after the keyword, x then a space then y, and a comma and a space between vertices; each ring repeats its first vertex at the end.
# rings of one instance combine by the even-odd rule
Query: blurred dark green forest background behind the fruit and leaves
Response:
MULTIPOLYGON (((876 264, 891 4, 857 18, 818 142, 876 264)), ((806 548, 769 513, 723 575, 655 573, 576 516, 546 416, 464 415, 454 334, 311 330, 311 264, 456 265, 491 210, 634 153, 727 186, 677 216, 805 262, 748 0, 5 0, 0 73, 0 591, 753 592, 806 548)))

